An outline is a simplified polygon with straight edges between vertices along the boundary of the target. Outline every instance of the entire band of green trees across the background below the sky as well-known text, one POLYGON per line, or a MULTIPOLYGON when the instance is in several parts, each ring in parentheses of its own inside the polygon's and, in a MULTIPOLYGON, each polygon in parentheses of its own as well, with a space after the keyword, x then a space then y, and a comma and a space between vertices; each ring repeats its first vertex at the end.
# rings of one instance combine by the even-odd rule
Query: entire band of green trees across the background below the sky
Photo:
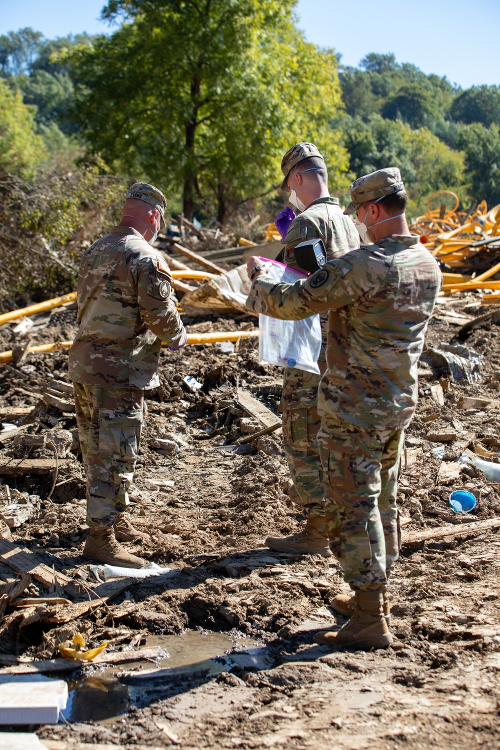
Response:
POLYGON ((310 140, 345 198, 351 179, 396 164, 416 213, 446 187, 467 205, 500 200, 500 86, 463 91, 391 52, 343 67, 307 43, 295 5, 109 0, 109 36, 0 36, 1 163, 27 174, 101 154, 187 217, 224 222, 249 199, 280 202, 281 157, 310 140))

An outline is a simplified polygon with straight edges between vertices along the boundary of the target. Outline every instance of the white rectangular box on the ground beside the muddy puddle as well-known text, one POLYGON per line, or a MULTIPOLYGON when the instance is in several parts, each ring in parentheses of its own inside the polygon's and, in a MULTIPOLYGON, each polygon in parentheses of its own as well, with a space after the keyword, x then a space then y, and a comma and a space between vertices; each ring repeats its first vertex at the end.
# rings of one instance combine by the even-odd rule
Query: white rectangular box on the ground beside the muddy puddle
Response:
POLYGON ((42 674, 0 676, 0 724, 57 724, 66 703, 64 679, 42 674))

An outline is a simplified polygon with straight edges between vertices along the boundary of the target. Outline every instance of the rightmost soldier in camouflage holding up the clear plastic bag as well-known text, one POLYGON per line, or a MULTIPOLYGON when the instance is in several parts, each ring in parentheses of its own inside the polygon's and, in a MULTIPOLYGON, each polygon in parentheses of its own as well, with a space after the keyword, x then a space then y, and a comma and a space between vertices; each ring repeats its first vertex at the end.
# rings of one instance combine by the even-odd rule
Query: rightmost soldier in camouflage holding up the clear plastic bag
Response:
MULTIPOLYGON (((396 167, 352 183, 358 250, 295 284, 255 272, 247 306, 286 320, 328 311, 327 370, 319 386, 318 434, 330 548, 354 590, 351 619, 319 643, 372 648, 391 643, 388 572, 398 556, 396 489, 404 429, 418 396, 417 367, 442 276, 411 236, 396 167)), ((339 608, 339 607, 337 607, 339 608)))

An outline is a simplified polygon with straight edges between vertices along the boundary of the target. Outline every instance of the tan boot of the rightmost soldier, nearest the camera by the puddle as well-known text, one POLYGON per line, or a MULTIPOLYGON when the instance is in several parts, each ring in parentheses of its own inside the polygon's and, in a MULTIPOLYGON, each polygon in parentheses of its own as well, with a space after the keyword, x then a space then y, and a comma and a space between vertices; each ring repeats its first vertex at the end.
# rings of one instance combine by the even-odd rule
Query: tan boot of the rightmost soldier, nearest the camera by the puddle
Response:
POLYGON ((327 646, 353 646, 358 649, 385 649, 392 643, 382 609, 382 591, 357 591, 355 611, 349 622, 338 632, 322 631, 314 637, 315 643, 327 646))

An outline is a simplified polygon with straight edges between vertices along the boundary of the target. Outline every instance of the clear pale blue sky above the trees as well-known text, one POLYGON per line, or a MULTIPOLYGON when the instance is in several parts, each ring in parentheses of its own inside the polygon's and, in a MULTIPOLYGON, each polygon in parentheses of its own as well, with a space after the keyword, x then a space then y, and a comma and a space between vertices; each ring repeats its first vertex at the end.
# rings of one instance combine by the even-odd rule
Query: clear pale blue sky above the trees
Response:
MULTIPOLYGON (((104 0, 0 0, 0 34, 31 26, 46 37, 109 33, 104 0)), ((337 49, 345 65, 367 52, 394 52, 425 73, 464 88, 500 84, 500 0, 299 0, 307 39, 337 49)))

